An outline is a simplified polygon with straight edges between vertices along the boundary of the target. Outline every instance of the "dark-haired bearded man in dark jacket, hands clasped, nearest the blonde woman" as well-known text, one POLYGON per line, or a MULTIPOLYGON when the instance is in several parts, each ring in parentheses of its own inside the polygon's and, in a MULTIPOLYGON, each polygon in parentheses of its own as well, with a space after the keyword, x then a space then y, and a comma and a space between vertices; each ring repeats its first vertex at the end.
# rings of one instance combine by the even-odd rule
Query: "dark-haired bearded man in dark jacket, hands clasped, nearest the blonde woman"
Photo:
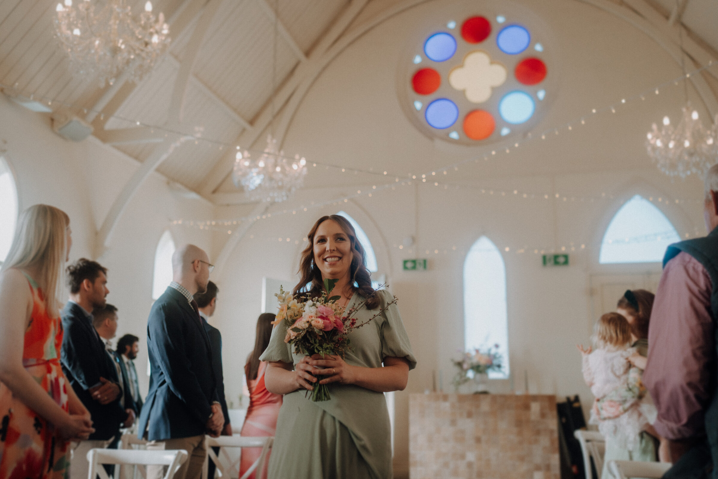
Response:
POLYGON ((80 258, 67 266, 70 300, 62 310, 60 361, 67 381, 90 411, 95 432, 73 450, 70 463, 72 479, 88 477, 87 452, 105 447, 118 434, 120 424, 129 419, 121 405, 120 379, 114 363, 93 327, 92 311, 106 305, 107 269, 95 261, 80 258))

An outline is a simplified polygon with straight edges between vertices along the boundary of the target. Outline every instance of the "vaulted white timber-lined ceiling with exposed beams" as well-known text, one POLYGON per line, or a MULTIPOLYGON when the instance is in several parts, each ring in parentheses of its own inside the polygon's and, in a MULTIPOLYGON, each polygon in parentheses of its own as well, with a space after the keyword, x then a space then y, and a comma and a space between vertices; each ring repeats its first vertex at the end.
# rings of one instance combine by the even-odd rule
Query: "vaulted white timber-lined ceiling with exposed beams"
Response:
MULTIPOLYGON (((73 76, 57 47, 57 0, 0 0, 0 84, 73 111, 93 124, 98 139, 142 163, 116 202, 116 216, 154 169, 227 203, 219 194, 223 182, 227 189, 234 154, 227 145, 261 150, 275 117, 272 129, 281 138, 304 93, 342 45, 426 1, 157 0, 154 11, 163 11, 170 24, 169 50, 139 84, 120 79, 100 88, 95 78, 73 76), (173 149, 180 134, 211 141, 173 149)), ((684 51, 694 66, 718 60, 715 0, 567 1, 620 9, 673 47, 684 28, 684 51)), ((139 11, 144 0, 130 3, 139 11)))

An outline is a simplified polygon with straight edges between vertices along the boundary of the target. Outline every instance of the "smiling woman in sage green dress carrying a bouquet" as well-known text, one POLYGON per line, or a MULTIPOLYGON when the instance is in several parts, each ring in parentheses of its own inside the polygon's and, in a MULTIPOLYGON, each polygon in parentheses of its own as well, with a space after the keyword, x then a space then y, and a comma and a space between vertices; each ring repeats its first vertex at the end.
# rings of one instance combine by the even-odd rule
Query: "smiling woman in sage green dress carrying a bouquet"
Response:
POLYGON ((324 279, 336 279, 332 296, 347 310, 362 304, 354 317, 373 321, 350 332, 344 358, 295 354, 284 343, 286 322, 272 332, 261 361, 266 388, 284 394, 269 461, 269 478, 389 479, 391 430, 384 392, 406 388, 416 366, 409 336, 393 297, 371 287, 364 250, 342 216, 323 216, 307 235, 294 287, 295 297, 319 297, 324 279), (387 306, 388 305, 388 306, 387 306), (307 391, 330 384, 331 399, 313 402, 307 391))

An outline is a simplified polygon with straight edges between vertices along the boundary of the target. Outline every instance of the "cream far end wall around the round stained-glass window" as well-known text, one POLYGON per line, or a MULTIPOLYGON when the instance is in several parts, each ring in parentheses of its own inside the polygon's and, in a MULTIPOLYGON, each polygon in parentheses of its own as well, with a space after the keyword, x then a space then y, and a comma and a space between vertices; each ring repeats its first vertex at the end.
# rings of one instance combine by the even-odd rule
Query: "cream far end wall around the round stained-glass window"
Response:
MULTIPOLYGON (((535 8, 549 24, 561 53, 560 67, 549 65, 549 71, 554 68, 561 75, 559 96, 535 131, 564 124, 591 108, 620 101, 681 74, 679 66, 653 40, 605 11, 580 2, 543 1, 540 10, 534 2, 523 3, 535 8)), ((342 52, 304 98, 289 127, 285 151, 301 152, 310 163, 387 169, 402 176, 432 172, 490 151, 437 146, 414 129, 398 104, 396 65, 404 39, 426 18, 443 18, 441 6, 441 2, 428 2, 405 11, 342 52)), ((708 118, 692 88, 689 90, 701 118, 708 118)), ((588 342, 596 319, 596 292, 589 287, 592 275, 660 271, 656 264, 597 264, 602 228, 610 213, 620 207, 618 197, 627 199, 640 192, 654 195, 654 201, 666 195, 689 200, 680 205, 656 205, 673 220, 681 236, 704 233, 699 180, 671 182, 653 167, 643 146, 651 123, 666 114, 676 118, 683 101, 682 87, 664 89, 660 96, 629 104, 615 114, 592 116, 587 126, 571 133, 563 129, 555 138, 526 143, 511 154, 472 163, 439 179, 475 188, 444 190, 430 183, 419 183, 416 190, 414 185, 397 186, 350 203, 309 207, 306 213, 299 210, 297 215, 272 215, 258 221, 218 277, 220 288, 232 295, 225 294, 217 311, 225 345, 233 348, 229 351, 225 346, 225 368, 228 362, 240 365, 253 345, 261 277, 296 281, 302 244, 295 246, 294 238, 302 238, 320 215, 345 209, 351 215, 363 215, 364 220, 355 217, 363 226, 366 218, 376 223, 376 228, 366 228, 375 246, 383 243, 380 235, 386 238, 388 250, 385 259, 380 259, 380 268, 391 269, 388 282, 399 297, 399 309, 419 359, 408 388, 396 396, 397 477, 408 475, 408 394, 431 388, 432 371, 442 371, 444 390, 452 390, 449 359, 464 344, 462 265, 466 252, 482 234, 502 250, 508 283, 513 378, 495 381, 493 390, 523 391, 527 376, 531 393, 580 394, 584 405, 590 404, 592 397, 582 380, 575 345, 588 342), (497 192, 481 194, 482 187, 497 192), (540 199, 514 196, 514 189, 540 194, 540 199), (508 195, 501 196, 500 190, 508 195), (555 192, 561 195, 558 201, 543 199, 544 193, 553 197, 555 192), (416 246, 398 249, 410 235, 416 236, 416 246), (279 236, 291 237, 292 242, 280 243, 279 236), (570 251, 571 243, 577 251, 570 251), (581 250, 581 244, 587 248, 581 250), (503 251, 505 246, 510 247, 508 253, 503 251), (516 253, 525 246, 531 253, 516 253), (571 253, 567 268, 546 268, 540 255, 533 254, 533 248, 560 246, 567 246, 571 253), (439 254, 434 254, 434 249, 439 249, 439 254), (401 261, 414 257, 428 257, 430 270, 401 271, 401 261)), ((300 192, 274 211, 348 195, 384 179, 341 176, 317 167, 309 169, 307 182, 315 188, 330 188, 300 192)), ((241 391, 240 368, 228 372, 226 378, 228 397, 236 400, 241 391)))

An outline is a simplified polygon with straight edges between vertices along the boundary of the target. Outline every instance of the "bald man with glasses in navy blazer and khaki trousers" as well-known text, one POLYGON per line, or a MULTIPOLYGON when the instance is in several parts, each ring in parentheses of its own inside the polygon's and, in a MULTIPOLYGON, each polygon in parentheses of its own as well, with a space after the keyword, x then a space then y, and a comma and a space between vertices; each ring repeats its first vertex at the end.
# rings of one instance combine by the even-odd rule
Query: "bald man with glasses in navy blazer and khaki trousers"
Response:
MULTIPOLYGON (((194 245, 172 255, 172 283, 152 305, 147 320, 151 373, 139 418, 148 450, 184 449, 190 457, 174 479, 200 479, 207 457, 205 434, 219 437, 224 416, 213 373, 212 348, 202 325, 196 292, 205 292, 214 266, 194 245)), ((147 468, 161 478, 162 467, 147 468)))

